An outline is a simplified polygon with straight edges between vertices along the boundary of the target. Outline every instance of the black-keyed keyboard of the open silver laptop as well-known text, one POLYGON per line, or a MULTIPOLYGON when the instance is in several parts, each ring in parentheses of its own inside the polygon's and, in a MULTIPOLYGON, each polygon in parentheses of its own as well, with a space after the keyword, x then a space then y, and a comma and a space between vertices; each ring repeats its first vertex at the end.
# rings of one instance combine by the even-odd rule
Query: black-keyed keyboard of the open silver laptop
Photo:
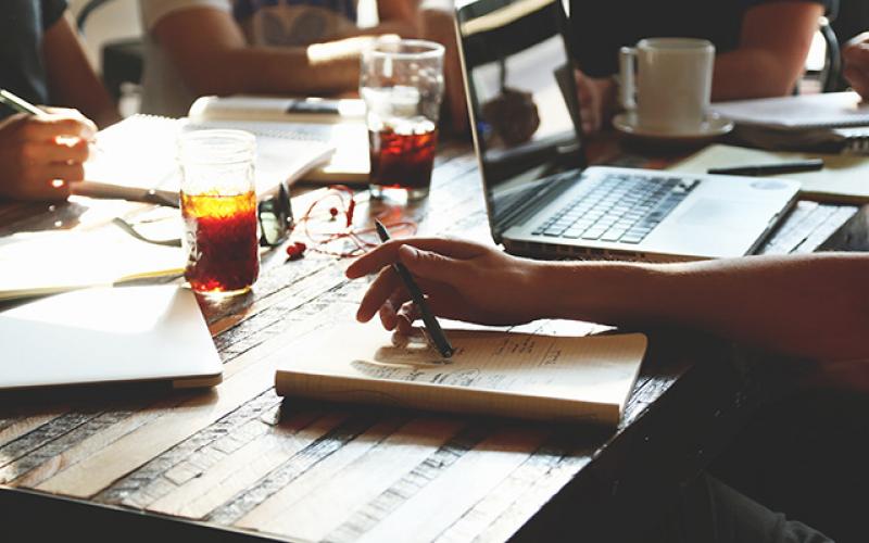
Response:
POLYGON ((679 177, 609 174, 531 233, 640 243, 698 184, 679 177))

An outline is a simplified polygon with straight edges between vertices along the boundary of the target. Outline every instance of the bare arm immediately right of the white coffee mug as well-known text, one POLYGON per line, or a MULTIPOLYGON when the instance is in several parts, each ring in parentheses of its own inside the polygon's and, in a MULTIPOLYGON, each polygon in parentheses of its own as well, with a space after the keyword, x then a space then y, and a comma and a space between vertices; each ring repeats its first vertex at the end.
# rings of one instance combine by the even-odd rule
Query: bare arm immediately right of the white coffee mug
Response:
POLYGON ((750 9, 739 48, 715 60, 713 101, 785 96, 803 74, 823 8, 771 2, 750 9))

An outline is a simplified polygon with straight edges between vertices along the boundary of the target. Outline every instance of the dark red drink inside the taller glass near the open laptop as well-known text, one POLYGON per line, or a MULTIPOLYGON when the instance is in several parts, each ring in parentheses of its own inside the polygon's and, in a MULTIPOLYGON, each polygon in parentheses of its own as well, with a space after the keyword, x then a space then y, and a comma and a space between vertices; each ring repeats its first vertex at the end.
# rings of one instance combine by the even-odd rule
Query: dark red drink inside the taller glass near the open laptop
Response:
POLYGON ((368 130, 371 174, 369 184, 382 189, 405 189, 411 199, 428 193, 438 143, 438 128, 431 121, 401 127, 385 125, 368 130))

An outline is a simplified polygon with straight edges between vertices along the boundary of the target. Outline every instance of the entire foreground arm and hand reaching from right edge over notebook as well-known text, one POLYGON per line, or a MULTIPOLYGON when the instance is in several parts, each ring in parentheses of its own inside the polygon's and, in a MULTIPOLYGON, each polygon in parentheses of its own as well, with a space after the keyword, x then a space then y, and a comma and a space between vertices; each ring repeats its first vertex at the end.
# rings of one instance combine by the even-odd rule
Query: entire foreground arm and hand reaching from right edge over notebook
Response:
POLYGON ((378 273, 358 308, 388 329, 415 317, 400 258, 439 316, 486 325, 568 318, 678 325, 823 362, 869 361, 869 255, 819 253, 684 264, 552 263, 445 239, 396 240, 361 256, 350 278, 378 273))

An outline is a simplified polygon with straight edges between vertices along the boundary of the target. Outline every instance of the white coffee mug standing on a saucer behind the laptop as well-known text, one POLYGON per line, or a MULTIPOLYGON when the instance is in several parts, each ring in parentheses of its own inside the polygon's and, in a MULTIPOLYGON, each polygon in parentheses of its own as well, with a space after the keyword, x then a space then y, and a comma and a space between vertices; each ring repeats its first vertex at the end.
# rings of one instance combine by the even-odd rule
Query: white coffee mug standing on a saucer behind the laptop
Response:
POLYGON ((642 130, 696 134, 707 121, 714 62, 715 46, 705 39, 646 38, 622 47, 621 105, 642 130))

